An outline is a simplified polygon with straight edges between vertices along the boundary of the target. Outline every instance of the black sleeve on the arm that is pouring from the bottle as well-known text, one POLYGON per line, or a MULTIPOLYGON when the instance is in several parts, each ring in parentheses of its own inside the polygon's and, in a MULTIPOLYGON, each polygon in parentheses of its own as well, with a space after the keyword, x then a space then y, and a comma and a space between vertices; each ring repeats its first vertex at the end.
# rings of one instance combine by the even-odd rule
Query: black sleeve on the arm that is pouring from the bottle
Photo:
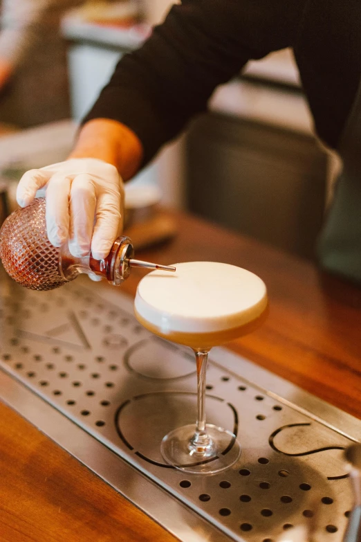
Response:
POLYGON ((147 163, 204 111, 215 87, 250 59, 293 44, 306 0, 183 0, 118 63, 83 122, 111 118, 135 132, 147 163))

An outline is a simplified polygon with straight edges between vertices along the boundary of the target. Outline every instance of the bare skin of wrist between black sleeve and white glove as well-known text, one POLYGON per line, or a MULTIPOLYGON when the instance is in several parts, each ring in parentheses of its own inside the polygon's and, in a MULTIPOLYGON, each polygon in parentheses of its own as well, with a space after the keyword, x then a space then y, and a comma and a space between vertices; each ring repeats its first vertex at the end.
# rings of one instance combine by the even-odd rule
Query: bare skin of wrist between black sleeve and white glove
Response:
POLYGON ((103 160, 115 165, 122 179, 128 181, 138 172, 142 154, 142 143, 131 129, 116 120, 95 118, 80 130, 68 159, 103 160))

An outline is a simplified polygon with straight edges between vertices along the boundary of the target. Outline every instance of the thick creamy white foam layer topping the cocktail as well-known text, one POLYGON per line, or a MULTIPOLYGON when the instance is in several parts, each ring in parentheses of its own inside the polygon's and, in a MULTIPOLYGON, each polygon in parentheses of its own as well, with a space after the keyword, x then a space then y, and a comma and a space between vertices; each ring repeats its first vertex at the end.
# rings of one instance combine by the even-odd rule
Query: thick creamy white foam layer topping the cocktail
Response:
POLYGON ((266 285, 230 264, 185 262, 138 284, 135 309, 160 331, 209 333, 246 325, 267 307, 266 285))

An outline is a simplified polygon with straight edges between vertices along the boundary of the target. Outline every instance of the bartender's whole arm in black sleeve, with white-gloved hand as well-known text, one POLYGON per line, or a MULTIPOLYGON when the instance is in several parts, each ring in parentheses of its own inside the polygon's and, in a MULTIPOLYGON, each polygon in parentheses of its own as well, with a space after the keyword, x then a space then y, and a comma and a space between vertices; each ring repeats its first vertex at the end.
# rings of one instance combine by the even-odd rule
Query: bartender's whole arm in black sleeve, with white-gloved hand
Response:
POLYGON ((48 237, 104 258, 122 224, 122 179, 205 111, 217 85, 250 59, 292 46, 306 0, 183 0, 125 55, 84 119, 69 159, 27 172, 21 206, 46 188, 48 237), (93 219, 95 216, 95 226, 93 219))

